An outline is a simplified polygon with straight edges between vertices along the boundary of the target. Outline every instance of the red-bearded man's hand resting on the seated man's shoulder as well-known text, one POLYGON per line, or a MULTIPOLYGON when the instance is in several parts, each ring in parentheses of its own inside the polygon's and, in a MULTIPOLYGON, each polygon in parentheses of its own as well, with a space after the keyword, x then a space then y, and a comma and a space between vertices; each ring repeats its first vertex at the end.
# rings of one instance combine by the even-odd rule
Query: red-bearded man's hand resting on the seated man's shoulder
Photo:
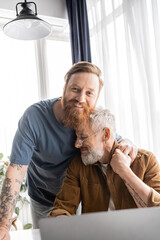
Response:
POLYGON ((117 148, 120 149, 126 156, 129 155, 132 162, 137 156, 138 148, 129 139, 120 140, 117 148))

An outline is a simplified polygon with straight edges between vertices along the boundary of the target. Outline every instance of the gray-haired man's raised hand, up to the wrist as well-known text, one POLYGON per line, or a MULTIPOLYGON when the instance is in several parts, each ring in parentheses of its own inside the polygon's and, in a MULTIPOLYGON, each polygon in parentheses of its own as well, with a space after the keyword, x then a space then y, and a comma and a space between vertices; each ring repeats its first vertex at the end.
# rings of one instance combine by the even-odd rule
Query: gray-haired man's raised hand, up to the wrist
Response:
POLYGON ((123 178, 123 175, 130 171, 131 163, 132 160, 128 155, 124 154, 121 150, 116 149, 115 153, 112 155, 110 165, 113 171, 123 178))

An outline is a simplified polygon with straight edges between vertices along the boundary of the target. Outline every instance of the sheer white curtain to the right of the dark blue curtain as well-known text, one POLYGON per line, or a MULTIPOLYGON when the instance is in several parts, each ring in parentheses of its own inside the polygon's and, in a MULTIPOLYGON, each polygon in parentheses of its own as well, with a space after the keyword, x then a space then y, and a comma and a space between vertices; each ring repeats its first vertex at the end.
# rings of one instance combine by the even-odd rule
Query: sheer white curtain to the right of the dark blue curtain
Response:
POLYGON ((160 159, 160 1, 87 0, 92 60, 103 72, 99 104, 117 132, 160 159))

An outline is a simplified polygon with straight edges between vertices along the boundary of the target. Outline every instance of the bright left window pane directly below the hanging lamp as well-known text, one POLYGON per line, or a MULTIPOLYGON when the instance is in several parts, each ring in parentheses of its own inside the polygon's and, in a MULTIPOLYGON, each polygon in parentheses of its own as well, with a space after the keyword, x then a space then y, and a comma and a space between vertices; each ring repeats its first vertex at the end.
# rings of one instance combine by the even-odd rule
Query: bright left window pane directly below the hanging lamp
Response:
POLYGON ((9 155, 18 119, 38 101, 34 42, 0 31, 0 152, 9 155))

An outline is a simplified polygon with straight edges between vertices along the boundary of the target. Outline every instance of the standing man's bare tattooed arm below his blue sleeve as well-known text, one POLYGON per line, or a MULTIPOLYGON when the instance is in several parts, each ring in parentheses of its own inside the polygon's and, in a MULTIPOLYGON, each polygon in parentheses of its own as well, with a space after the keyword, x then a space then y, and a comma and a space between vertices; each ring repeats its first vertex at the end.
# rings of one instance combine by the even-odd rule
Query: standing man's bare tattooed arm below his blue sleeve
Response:
POLYGON ((12 215, 28 166, 10 163, 0 196, 0 240, 9 239, 12 215))

